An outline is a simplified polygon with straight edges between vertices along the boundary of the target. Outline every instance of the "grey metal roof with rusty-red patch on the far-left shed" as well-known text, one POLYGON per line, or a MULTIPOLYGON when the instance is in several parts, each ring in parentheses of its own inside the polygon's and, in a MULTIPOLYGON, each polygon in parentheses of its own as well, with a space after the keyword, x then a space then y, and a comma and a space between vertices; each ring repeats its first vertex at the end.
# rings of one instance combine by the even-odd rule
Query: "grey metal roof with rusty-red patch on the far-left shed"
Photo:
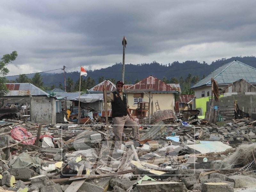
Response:
POLYGON ((8 88, 9 92, 5 96, 50 96, 47 92, 31 83, 8 83, 6 84, 6 87, 8 88))

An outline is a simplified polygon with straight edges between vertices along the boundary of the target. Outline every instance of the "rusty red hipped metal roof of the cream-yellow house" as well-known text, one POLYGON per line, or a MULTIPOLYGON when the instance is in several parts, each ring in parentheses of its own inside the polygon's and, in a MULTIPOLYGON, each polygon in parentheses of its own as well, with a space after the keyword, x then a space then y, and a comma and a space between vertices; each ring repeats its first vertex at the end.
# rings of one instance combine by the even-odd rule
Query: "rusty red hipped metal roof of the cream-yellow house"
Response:
POLYGON ((126 90, 147 90, 153 89, 156 92, 178 92, 176 89, 172 88, 170 85, 162 82, 156 77, 148 76, 142 79, 140 82, 128 87, 126 90))

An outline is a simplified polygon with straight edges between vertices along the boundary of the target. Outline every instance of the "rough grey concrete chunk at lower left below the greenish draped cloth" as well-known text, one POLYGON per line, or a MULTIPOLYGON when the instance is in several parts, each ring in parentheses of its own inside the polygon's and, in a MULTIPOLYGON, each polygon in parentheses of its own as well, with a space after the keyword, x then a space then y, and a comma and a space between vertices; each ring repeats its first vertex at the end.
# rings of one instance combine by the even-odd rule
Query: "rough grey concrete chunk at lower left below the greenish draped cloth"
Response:
POLYGON ((36 172, 29 168, 10 168, 9 173, 15 177, 16 180, 28 181, 29 178, 38 176, 36 172))

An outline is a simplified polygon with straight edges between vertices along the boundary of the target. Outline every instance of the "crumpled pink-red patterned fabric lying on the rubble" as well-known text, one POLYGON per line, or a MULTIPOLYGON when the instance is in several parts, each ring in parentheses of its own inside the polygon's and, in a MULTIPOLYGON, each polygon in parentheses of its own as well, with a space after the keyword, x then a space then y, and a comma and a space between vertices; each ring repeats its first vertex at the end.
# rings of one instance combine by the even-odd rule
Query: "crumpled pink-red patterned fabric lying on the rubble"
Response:
MULTIPOLYGON (((14 140, 20 141, 22 139, 32 137, 32 134, 29 131, 27 131, 25 128, 16 126, 11 130, 11 137, 14 140)), ((53 138, 51 135, 41 135, 40 139, 43 137, 53 138)), ((28 144, 28 145, 34 145, 35 142, 36 142, 36 137, 33 137, 32 139, 22 141, 21 143, 28 144)))

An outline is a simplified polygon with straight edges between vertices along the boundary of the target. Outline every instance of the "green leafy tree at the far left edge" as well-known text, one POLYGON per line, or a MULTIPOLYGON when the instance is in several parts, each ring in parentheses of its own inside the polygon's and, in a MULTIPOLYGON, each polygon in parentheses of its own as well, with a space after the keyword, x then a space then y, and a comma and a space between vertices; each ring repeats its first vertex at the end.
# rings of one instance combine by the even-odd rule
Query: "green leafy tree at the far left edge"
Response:
POLYGON ((18 54, 17 51, 13 51, 10 54, 5 54, 0 60, 0 94, 5 95, 8 93, 8 89, 6 87, 6 83, 8 80, 6 79, 6 76, 9 73, 9 69, 6 67, 8 63, 11 63, 17 58, 18 54))

